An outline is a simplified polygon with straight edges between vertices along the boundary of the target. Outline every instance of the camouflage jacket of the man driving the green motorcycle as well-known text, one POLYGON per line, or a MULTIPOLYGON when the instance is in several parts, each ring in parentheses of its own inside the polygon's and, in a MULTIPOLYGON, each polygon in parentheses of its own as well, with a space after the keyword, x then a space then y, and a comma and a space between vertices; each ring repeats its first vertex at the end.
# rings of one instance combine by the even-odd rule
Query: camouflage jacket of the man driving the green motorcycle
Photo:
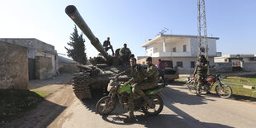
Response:
POLYGON ((119 75, 130 75, 131 78, 128 80, 128 83, 141 83, 145 79, 144 75, 145 69, 140 64, 136 64, 135 67, 119 73, 119 75))

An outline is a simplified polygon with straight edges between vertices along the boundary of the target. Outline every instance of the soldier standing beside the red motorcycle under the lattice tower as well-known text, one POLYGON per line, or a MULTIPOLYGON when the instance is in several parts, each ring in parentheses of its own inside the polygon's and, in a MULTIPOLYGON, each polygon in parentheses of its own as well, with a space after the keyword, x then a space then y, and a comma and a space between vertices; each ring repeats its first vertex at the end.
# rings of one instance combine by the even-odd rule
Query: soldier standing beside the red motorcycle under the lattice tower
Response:
MULTIPOLYGON (((205 80, 205 78, 207 77, 207 67, 208 67, 208 62, 205 58, 204 55, 200 55, 197 61, 197 66, 195 69, 195 72, 193 73, 193 77, 196 75, 197 73, 197 96, 200 96, 200 92, 201 92, 201 86, 203 85, 203 82, 205 80)), ((209 92, 207 92, 209 93, 209 92)))

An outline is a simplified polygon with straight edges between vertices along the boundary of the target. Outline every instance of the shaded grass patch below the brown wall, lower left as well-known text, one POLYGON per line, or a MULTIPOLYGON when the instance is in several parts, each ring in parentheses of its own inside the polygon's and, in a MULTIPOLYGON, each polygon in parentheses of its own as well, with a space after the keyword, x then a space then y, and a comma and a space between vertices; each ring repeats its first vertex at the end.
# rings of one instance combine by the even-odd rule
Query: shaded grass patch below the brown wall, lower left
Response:
POLYGON ((22 111, 30 110, 44 100, 48 93, 22 89, 0 89, 0 119, 11 120, 22 111))

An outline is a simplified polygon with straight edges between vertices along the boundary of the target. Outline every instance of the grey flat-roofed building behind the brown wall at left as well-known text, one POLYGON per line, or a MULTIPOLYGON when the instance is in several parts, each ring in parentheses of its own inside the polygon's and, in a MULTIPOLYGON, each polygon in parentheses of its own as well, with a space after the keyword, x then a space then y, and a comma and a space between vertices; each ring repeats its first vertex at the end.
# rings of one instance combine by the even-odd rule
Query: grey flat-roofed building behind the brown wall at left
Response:
POLYGON ((58 55, 55 46, 35 38, 0 38, 0 40, 14 45, 21 45, 28 49, 27 57, 30 80, 52 78, 57 74, 58 55))

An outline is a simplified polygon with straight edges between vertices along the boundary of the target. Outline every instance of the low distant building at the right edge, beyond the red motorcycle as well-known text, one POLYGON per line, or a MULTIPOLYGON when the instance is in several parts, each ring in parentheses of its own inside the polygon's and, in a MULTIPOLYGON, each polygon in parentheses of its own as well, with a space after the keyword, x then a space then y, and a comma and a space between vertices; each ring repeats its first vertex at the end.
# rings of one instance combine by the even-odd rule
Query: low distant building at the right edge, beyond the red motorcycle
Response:
POLYGON ((256 71, 256 55, 223 55, 215 57, 217 72, 256 71))

